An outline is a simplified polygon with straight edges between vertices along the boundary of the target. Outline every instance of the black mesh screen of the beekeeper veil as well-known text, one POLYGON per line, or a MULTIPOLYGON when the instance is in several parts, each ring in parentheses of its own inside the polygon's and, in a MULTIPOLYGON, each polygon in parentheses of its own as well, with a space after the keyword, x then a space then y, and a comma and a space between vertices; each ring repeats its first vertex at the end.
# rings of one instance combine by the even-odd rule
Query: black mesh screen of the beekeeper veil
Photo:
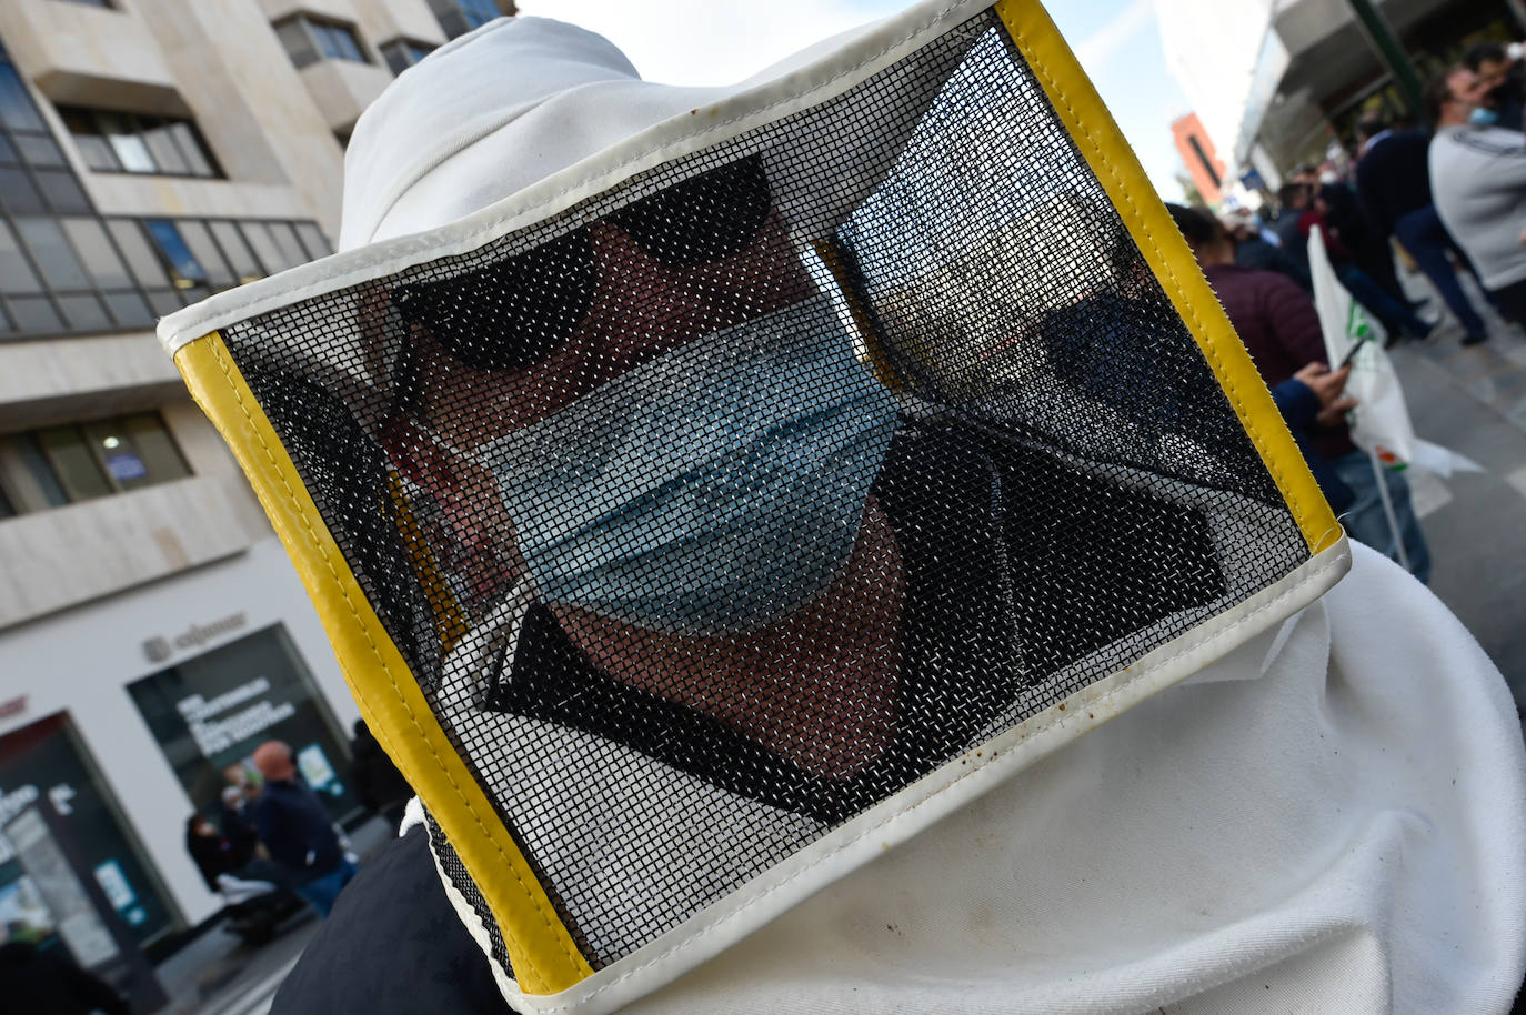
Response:
POLYGON ((226 337, 595 968, 1308 557, 987 18, 226 337))

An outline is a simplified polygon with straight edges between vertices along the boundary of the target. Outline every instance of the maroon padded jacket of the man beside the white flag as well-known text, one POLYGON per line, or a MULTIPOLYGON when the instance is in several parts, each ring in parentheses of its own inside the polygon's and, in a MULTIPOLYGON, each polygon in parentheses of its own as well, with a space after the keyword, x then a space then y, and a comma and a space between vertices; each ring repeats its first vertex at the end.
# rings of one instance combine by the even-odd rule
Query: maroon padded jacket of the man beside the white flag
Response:
MULTIPOLYGON (((1314 302, 1286 278, 1238 264, 1215 264, 1204 275, 1268 388, 1276 388, 1308 363, 1328 359, 1314 302)), ((1344 424, 1315 427, 1308 437, 1326 461, 1357 449, 1344 424)))

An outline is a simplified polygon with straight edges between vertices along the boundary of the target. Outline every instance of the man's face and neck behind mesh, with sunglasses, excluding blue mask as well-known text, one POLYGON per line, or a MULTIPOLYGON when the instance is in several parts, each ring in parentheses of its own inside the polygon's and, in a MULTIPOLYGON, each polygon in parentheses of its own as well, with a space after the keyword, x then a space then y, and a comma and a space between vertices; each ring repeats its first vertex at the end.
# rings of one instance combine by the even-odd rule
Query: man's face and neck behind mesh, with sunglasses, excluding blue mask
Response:
MULTIPOLYGON (((481 617, 531 571, 490 446, 664 354, 812 295, 757 157, 465 279, 395 290, 409 336, 397 371, 407 438, 394 453, 406 449, 401 472, 439 508, 427 531, 465 578, 468 611, 481 617)), ((824 380, 807 375, 804 386, 824 380)), ((761 398, 771 377, 742 383, 761 398)), ((827 588, 746 630, 690 636, 578 604, 549 609, 601 672, 809 771, 845 775, 893 734, 902 598, 896 540, 873 495, 852 524, 852 553, 827 588)))

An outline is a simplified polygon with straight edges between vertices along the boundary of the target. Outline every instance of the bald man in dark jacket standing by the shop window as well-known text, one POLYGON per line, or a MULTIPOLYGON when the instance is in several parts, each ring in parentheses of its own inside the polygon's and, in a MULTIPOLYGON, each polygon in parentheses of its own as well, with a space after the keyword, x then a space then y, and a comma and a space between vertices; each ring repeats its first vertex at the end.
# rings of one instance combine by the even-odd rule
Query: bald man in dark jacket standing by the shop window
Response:
POLYGON ((255 768, 266 777, 255 800, 259 841, 291 876, 291 890, 327 917, 357 867, 345 858, 324 801, 298 781, 290 746, 266 740, 255 748, 255 768))

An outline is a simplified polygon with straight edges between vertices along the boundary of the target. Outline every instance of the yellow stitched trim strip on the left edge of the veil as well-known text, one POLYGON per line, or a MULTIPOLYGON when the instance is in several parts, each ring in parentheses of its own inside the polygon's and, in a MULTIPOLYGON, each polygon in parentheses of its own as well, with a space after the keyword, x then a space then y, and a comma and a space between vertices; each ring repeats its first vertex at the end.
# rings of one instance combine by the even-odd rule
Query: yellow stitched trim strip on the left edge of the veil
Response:
POLYGON ((481 888, 520 988, 555 994, 592 975, 519 846, 435 720, 223 336, 214 331, 185 345, 175 366, 253 484, 317 607, 362 716, 481 888))

